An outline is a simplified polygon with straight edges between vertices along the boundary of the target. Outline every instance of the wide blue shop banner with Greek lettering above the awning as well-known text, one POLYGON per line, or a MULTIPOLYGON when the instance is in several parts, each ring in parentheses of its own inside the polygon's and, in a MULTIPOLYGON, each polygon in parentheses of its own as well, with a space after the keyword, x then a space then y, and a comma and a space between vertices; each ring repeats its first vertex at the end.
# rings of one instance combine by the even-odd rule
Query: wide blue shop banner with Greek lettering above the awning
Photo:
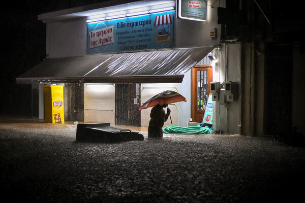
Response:
POLYGON ((174 47, 175 11, 87 24, 87 54, 174 47))

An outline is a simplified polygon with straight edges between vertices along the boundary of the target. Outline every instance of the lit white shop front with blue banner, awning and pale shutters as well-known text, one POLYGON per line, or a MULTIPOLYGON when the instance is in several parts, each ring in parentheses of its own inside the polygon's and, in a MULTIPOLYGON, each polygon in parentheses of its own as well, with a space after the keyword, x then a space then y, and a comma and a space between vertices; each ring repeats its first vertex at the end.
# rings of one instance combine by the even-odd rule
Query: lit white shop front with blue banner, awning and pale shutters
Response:
MULTIPOLYGON (((176 1, 108 2, 39 15, 47 27, 47 57, 16 80, 33 84, 39 104, 44 85, 64 85, 65 120, 136 126, 148 125, 150 110, 137 110, 144 101, 174 90, 188 102, 170 106, 172 125, 186 126, 191 68, 220 44, 222 5, 197 2, 205 14, 200 21, 177 17, 176 1)), ((43 119, 44 107, 38 108, 43 119)))

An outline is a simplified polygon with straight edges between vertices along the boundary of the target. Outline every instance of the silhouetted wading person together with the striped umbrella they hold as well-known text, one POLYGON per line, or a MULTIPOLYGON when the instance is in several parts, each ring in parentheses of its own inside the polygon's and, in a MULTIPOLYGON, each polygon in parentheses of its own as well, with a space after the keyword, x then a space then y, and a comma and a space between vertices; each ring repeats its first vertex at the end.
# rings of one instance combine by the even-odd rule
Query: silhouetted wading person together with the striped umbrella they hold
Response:
MULTIPOLYGON (((155 96, 148 99, 139 110, 147 109, 149 107, 154 107, 150 111, 150 121, 148 125, 148 138, 163 138, 162 127, 164 122, 167 121, 168 116, 170 117, 170 109, 168 104, 172 104, 178 101, 187 101, 181 94, 167 90, 156 94, 155 96), (167 107, 167 113, 163 108, 167 107)), ((172 123, 171 117, 170 121, 172 123)), ((173 124, 173 123, 172 123, 173 124)))

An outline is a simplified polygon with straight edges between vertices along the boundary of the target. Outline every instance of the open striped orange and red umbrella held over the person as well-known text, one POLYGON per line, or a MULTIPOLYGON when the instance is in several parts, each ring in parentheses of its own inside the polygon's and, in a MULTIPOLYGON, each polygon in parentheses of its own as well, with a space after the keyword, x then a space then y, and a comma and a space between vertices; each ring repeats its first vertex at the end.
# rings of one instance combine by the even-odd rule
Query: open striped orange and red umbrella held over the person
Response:
POLYGON ((175 91, 167 90, 159 94, 156 94, 155 96, 148 99, 141 107, 139 107, 139 110, 147 109, 149 107, 154 107, 156 105, 163 106, 178 101, 187 101, 187 100, 181 94, 175 91))

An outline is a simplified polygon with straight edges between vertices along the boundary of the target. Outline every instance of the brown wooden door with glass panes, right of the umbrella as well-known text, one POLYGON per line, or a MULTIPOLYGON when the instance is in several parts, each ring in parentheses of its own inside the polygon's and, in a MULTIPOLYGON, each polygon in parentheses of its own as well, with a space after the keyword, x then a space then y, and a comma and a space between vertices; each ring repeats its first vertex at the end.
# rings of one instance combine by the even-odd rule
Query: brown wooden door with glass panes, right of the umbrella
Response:
POLYGON ((212 82, 211 65, 195 65, 192 67, 191 117, 193 122, 201 123, 212 82))

